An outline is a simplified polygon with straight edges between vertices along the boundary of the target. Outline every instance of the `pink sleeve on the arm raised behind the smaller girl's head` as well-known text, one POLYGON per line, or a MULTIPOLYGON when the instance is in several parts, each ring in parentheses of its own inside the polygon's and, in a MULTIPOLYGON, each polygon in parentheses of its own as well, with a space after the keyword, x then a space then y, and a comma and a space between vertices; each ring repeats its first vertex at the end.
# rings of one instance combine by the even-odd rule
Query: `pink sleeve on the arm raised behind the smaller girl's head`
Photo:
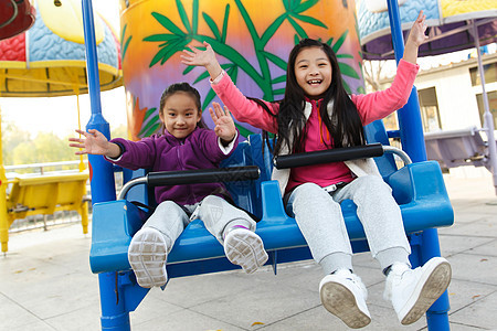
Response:
MULTIPOLYGON (((230 109, 236 120, 247 122, 256 128, 277 134, 276 118, 257 103, 247 99, 240 89, 233 84, 231 77, 224 74, 221 81, 212 83, 212 89, 220 97, 221 102, 230 109)), ((277 104, 263 102, 274 114, 277 114, 279 107, 277 104)))

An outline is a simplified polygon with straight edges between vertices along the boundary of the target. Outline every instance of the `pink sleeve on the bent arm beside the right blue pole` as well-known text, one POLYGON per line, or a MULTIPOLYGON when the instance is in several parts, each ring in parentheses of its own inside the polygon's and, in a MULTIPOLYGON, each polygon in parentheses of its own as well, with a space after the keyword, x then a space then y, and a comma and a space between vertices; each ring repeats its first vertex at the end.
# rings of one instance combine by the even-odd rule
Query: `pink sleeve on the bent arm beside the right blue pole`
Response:
POLYGON ((401 60, 392 85, 385 90, 370 94, 352 95, 351 99, 361 117, 362 125, 368 125, 402 108, 411 95, 420 65, 401 60))

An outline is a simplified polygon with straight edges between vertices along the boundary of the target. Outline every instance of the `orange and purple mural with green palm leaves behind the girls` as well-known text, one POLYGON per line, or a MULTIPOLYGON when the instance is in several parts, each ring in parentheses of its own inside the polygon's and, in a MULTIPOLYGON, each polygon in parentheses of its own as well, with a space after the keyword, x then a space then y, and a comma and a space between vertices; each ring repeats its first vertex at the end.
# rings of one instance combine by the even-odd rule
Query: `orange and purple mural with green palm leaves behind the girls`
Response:
MULTIPOLYGON (((284 94, 287 57, 304 38, 332 46, 349 93, 363 93, 356 4, 350 0, 148 0, 121 1, 121 54, 128 135, 157 132, 162 90, 188 82, 207 109, 216 100, 203 67, 186 66, 187 45, 210 43, 222 67, 248 96, 266 100, 284 94)), ((212 126, 209 116, 204 121, 212 126)), ((242 136, 258 130, 236 124, 242 136)))

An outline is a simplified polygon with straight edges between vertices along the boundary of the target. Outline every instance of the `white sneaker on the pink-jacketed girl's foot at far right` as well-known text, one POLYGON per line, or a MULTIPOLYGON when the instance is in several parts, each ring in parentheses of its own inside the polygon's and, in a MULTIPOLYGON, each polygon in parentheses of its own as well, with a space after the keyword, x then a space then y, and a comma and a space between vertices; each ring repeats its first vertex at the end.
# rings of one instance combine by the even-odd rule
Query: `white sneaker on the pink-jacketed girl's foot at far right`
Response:
POLYGON ((443 257, 434 257, 415 269, 394 264, 387 277, 383 297, 392 301, 402 324, 412 324, 443 295, 451 277, 451 265, 443 257))

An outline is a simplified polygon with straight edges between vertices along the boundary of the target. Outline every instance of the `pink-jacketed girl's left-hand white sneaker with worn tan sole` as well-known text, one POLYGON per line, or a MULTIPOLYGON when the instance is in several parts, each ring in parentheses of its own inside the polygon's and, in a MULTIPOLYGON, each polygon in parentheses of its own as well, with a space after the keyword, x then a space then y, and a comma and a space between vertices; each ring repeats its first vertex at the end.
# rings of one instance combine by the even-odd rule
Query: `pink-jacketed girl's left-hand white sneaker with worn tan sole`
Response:
POLYGON ((339 269, 322 278, 319 284, 322 306, 341 319, 347 327, 359 329, 371 322, 366 300, 368 290, 359 276, 346 269, 339 269))

